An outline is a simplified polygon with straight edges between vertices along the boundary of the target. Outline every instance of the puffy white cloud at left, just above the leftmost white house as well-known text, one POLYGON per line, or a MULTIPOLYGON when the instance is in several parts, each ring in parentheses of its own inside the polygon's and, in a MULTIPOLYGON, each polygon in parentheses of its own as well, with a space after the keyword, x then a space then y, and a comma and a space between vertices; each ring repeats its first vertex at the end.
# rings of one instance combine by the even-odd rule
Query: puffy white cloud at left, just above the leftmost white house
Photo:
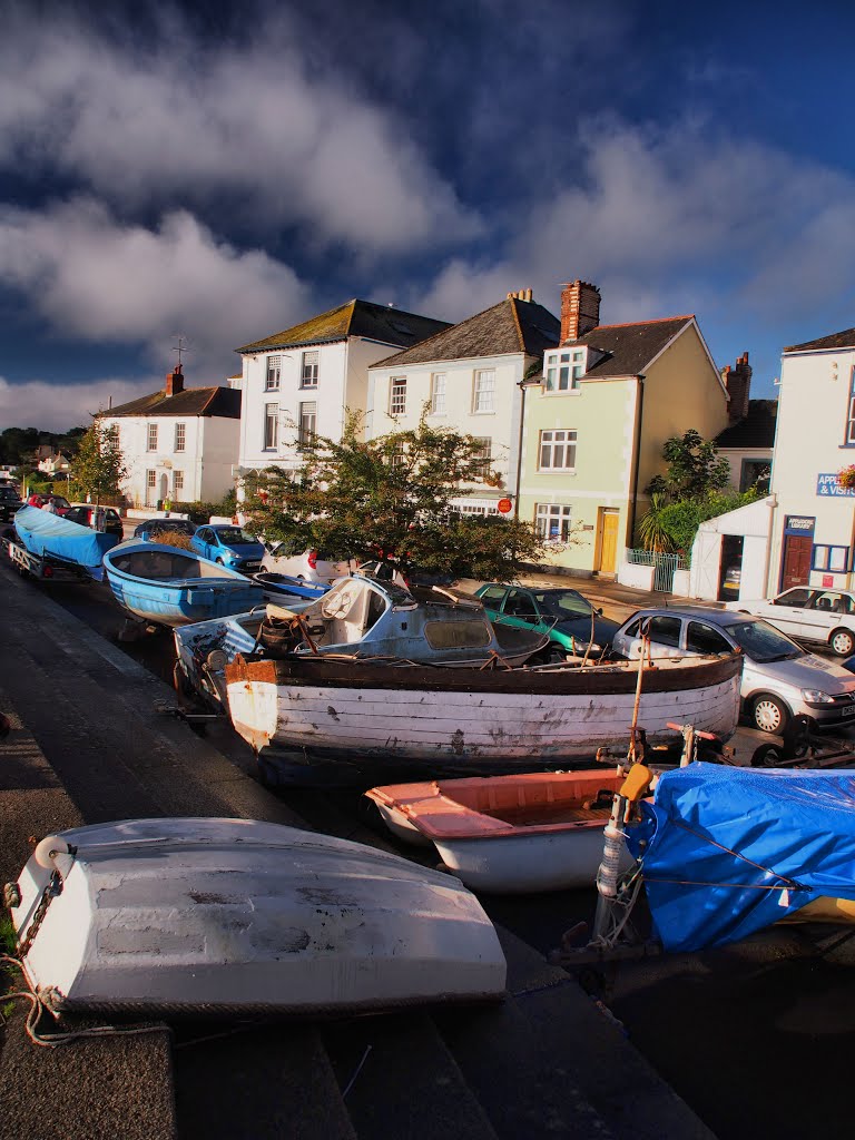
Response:
POLYGON ((239 370, 234 349, 287 328, 307 304, 288 267, 217 242, 186 211, 152 230, 87 198, 0 211, 0 275, 65 337, 133 342, 165 363, 184 335, 196 384, 239 370))

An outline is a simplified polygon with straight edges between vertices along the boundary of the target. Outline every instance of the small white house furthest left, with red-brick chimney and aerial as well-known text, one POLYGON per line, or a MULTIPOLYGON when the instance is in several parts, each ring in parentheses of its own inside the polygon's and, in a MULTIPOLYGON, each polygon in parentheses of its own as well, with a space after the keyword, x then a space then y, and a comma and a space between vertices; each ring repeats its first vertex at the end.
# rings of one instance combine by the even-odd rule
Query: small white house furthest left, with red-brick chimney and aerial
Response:
POLYGON ((215 502, 234 487, 241 434, 241 391, 185 388, 179 364, 165 388, 98 415, 119 431, 132 506, 215 502))

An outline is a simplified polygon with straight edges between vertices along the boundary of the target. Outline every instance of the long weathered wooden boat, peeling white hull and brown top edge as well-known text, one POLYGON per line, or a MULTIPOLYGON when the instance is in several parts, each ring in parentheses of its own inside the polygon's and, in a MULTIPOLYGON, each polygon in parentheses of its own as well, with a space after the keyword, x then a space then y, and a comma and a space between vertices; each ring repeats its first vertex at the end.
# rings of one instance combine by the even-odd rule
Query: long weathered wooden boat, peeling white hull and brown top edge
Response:
MULTIPOLYGON (((585 766, 603 748, 625 747, 637 670, 629 662, 478 669, 238 656, 225 679, 231 722, 269 780, 288 782, 301 764, 378 783, 401 773, 412 780, 585 766)), ((649 743, 679 741, 669 722, 727 740, 741 671, 739 654, 645 668, 637 723, 649 743)))

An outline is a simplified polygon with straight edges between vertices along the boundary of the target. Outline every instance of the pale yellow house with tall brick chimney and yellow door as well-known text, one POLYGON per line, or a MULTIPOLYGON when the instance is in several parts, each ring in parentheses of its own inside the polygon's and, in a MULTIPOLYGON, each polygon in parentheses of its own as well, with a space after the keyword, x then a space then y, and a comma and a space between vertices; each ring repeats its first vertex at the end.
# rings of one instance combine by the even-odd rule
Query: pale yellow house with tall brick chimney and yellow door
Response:
POLYGON ((662 445, 727 424, 727 389, 693 316, 600 324, 600 291, 565 285, 560 343, 526 397, 520 518, 549 563, 613 575, 665 471, 662 445))

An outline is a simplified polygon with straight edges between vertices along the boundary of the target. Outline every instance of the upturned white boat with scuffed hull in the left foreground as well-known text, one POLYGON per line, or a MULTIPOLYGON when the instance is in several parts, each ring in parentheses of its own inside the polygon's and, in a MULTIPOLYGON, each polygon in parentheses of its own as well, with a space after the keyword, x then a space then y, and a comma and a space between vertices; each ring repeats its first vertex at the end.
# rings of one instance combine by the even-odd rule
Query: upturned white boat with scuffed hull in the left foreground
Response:
POLYGON ((66 831, 19 877, 19 938, 54 873, 23 966, 56 1012, 304 1015, 504 992, 465 887, 359 844, 251 820, 66 831))

